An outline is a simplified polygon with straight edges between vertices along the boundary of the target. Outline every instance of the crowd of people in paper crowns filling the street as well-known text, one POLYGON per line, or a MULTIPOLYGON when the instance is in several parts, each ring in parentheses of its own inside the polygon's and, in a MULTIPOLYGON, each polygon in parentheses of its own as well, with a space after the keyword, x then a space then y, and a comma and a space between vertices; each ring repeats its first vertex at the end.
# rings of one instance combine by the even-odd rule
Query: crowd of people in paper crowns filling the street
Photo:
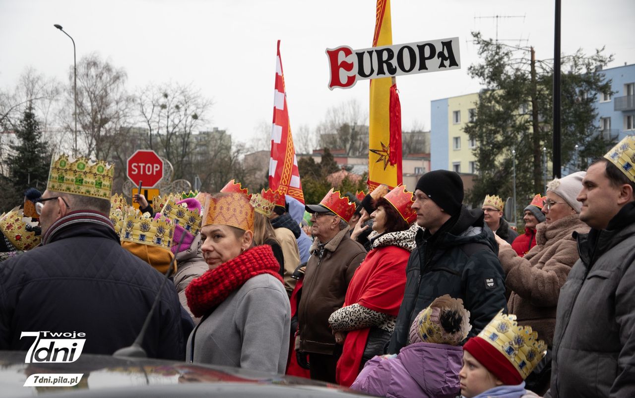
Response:
POLYGON ((111 355, 149 317, 149 357, 377 396, 633 397, 633 166, 628 136, 533 197, 519 235, 496 192, 465 206, 453 171, 331 189, 306 222, 233 180, 137 209, 109 164, 54 157, 0 216, 0 349, 77 331, 111 355))

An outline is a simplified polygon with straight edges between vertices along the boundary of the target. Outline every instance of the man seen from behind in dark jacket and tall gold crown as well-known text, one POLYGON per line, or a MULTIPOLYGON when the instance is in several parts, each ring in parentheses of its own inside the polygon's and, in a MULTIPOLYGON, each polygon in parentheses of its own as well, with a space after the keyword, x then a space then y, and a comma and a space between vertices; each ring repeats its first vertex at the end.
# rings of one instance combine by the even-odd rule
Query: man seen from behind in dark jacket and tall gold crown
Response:
POLYGON ((132 345, 157 295, 142 347, 149 357, 183 359, 180 304, 164 275, 121 248, 108 218, 112 166, 84 157, 54 159, 35 207, 42 246, 0 267, 0 349, 27 350, 24 331, 85 333, 83 352, 132 345))

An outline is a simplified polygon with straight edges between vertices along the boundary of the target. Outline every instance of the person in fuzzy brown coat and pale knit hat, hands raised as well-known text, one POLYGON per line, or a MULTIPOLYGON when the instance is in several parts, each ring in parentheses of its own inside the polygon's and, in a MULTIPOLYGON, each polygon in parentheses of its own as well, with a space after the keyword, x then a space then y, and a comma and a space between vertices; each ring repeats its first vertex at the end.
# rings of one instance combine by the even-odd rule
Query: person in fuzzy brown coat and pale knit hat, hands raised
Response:
MULTIPOLYGON (((585 172, 556 178, 547 185, 542 212, 545 222, 536 227, 536 246, 520 257, 500 237, 496 237, 498 260, 505 271, 505 286, 511 289, 507 307, 518 323, 528 325, 551 348, 556 328, 556 305, 560 288, 573 264, 580 258, 573 232, 585 234, 589 226, 580 221, 581 204, 575 198, 582 189, 585 172)), ((547 359, 546 361, 549 361, 547 359)), ((548 376, 549 373, 547 372, 548 376)), ((548 377, 535 392, 545 392, 548 377)), ((530 383, 531 380, 528 381, 530 383)), ((528 387, 529 388, 529 387, 528 387)))

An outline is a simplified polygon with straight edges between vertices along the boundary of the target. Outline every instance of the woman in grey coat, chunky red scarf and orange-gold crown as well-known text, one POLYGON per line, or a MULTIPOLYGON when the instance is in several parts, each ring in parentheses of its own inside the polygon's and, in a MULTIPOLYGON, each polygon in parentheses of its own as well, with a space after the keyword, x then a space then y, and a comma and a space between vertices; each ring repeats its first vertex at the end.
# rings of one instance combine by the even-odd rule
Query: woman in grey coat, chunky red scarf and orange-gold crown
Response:
POLYGON ((187 361, 284 373, 291 307, 271 246, 253 241, 251 196, 204 197, 201 239, 209 270, 185 289, 203 317, 187 341, 187 361))

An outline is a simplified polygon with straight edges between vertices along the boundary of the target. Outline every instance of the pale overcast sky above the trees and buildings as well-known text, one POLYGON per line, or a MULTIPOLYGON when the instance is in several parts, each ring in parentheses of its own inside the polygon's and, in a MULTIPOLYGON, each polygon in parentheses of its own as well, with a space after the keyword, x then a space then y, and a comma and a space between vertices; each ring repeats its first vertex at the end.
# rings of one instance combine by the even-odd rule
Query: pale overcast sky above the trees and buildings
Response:
MULTIPOLYGON (((271 123, 276 41, 281 39, 291 128, 314 128, 326 109, 357 98, 368 110, 368 81, 328 89, 324 50, 372 44, 375 0, 0 0, 0 87, 25 67, 67 81, 72 43, 77 59, 97 52, 128 72, 128 89, 148 83, 192 83, 214 101, 210 127, 246 141, 271 123)), ((460 70, 398 77, 403 128, 430 128, 430 102, 479 90, 467 76, 478 61, 471 31, 532 45, 553 57, 554 0, 392 0, 392 43, 456 37, 460 70)), ((609 67, 635 63, 634 0, 568 0, 562 6, 563 53, 606 46, 609 67)))

